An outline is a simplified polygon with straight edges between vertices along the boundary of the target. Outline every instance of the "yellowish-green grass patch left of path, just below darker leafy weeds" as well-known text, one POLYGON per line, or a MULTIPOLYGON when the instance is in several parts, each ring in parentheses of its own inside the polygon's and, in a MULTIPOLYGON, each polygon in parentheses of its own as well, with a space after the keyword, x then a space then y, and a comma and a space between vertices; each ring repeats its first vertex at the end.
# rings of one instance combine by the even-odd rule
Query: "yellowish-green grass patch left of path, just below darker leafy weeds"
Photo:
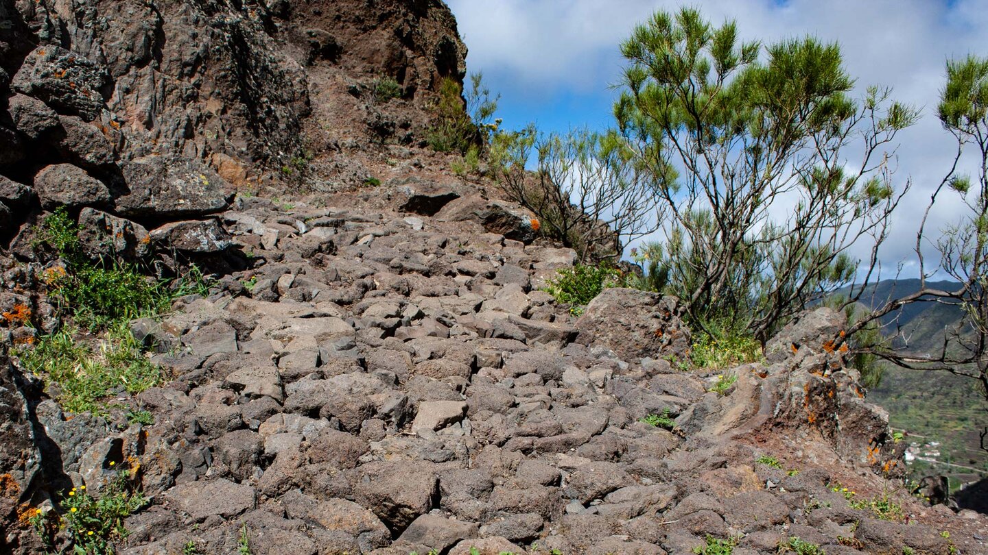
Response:
POLYGON ((77 341, 75 330, 41 336, 20 351, 21 364, 40 377, 67 412, 106 415, 103 401, 118 390, 140 393, 162 382, 161 369, 141 352, 126 323, 111 328, 97 348, 77 341))

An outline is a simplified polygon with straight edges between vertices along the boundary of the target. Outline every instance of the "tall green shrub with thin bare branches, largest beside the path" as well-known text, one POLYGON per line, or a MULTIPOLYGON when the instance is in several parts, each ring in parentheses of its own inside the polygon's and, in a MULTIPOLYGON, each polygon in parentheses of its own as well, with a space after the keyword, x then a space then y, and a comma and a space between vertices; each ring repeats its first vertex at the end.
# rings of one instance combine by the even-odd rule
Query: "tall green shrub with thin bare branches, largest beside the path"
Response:
POLYGON ((668 272, 668 292, 692 320, 727 320, 764 344, 849 284, 858 263, 848 249, 880 242, 903 193, 877 160, 916 111, 877 87, 849 98, 855 81, 837 44, 763 46, 692 8, 656 13, 621 52, 618 130, 654 178, 667 216, 656 270, 668 272), (875 163, 851 169, 849 157, 875 163), (798 200, 786 218, 772 217, 789 198, 798 200))

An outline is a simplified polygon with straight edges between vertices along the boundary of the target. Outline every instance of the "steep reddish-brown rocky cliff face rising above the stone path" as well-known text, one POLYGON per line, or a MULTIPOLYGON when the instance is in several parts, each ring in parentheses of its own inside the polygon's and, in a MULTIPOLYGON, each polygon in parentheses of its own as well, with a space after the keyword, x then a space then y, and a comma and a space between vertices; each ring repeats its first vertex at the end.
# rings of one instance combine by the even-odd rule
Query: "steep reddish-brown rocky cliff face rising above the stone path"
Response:
POLYGON ((0 175, 28 188, 0 197, 4 235, 32 188, 43 208, 145 219, 206 195, 182 210, 201 215, 237 187, 299 185, 288 174, 339 164, 341 142, 412 142, 466 51, 439 1, 2 0, 0 21, 0 175), (402 87, 391 105, 374 98, 385 77, 402 87), (87 183, 79 198, 39 183, 54 164, 87 183))

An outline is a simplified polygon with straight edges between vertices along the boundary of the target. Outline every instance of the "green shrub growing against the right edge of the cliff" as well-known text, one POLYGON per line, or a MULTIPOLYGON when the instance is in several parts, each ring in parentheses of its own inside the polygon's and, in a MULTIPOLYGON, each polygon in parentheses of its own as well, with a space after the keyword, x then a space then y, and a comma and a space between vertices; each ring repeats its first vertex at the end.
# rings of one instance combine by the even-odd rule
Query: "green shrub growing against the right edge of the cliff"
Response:
POLYGON ((470 75, 465 100, 462 87, 451 77, 440 81, 437 93, 436 120, 426 133, 429 147, 437 152, 466 154, 471 146, 486 145, 500 124, 500 119, 491 120, 501 96, 491 95, 483 84, 483 74, 470 75))

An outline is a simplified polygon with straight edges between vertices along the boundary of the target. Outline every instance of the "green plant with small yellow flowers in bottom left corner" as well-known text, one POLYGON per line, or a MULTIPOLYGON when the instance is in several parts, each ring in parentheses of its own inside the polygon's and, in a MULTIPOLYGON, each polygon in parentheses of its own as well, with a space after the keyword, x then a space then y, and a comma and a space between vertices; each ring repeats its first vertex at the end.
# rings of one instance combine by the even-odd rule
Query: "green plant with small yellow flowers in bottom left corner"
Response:
POLYGON ((72 488, 59 496, 60 512, 36 510, 29 520, 49 549, 54 547, 54 534, 64 529, 72 553, 113 555, 113 542, 122 541, 129 535, 124 518, 147 503, 147 498, 130 487, 128 473, 124 471, 104 488, 101 495, 90 495, 85 486, 72 488))

